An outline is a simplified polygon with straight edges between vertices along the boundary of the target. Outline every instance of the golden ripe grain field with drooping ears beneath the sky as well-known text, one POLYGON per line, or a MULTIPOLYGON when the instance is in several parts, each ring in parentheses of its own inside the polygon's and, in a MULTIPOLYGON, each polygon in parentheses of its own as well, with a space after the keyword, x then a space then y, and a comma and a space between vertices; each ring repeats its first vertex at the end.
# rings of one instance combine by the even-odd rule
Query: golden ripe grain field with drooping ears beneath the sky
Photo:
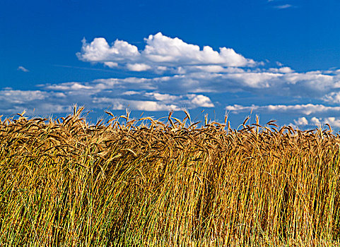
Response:
POLYGON ((339 246, 329 126, 89 126, 81 110, 1 121, 0 246, 339 246))

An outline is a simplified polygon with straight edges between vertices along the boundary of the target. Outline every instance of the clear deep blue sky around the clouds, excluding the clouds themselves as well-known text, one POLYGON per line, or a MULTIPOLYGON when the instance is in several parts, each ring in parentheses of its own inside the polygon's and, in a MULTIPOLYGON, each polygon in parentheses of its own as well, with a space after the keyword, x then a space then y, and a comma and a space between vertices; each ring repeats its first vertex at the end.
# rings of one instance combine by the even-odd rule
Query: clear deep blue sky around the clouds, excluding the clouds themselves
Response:
MULTIPOLYGON (((206 45, 216 51, 219 47, 232 48, 247 59, 264 61, 262 68, 277 68, 276 61, 279 61, 297 73, 336 71, 340 68, 339 13, 340 2, 335 0, 3 0, 0 3, 0 88, 41 90, 37 85, 131 76, 150 78, 152 75, 147 72, 81 61, 76 53, 81 52, 83 37, 88 42, 96 37, 105 37, 109 44, 117 39, 124 40, 143 50, 143 39, 158 32, 197 44, 201 49, 206 45), (18 70, 18 66, 29 72, 18 70)), ((328 90, 325 95, 331 91, 328 90)), ((218 115, 224 114, 225 105, 322 103, 322 97, 277 95, 270 98, 251 89, 237 93, 203 94, 209 96, 216 106, 206 111, 215 110, 218 115)), ((40 104, 44 104, 44 100, 40 104)), ((336 107, 337 104, 328 101, 324 105, 336 107)), ((192 111, 198 114, 202 109, 195 107, 192 111)), ((98 112, 100 109, 93 116, 97 116, 98 112)), ((136 113, 139 114, 139 111, 136 113)), ((153 112, 152 115, 164 113, 153 112)), ((230 113, 230 117, 235 115, 235 121, 239 122, 247 114, 249 112, 230 113)), ((286 124, 298 121, 299 117, 294 112, 267 114, 259 111, 259 114, 264 116, 264 120, 280 118, 286 124)), ((336 118, 338 115, 336 110, 320 117, 336 118)), ((308 117, 319 118, 315 114, 308 114, 308 117)), ((223 116, 219 118, 223 119, 223 116)))

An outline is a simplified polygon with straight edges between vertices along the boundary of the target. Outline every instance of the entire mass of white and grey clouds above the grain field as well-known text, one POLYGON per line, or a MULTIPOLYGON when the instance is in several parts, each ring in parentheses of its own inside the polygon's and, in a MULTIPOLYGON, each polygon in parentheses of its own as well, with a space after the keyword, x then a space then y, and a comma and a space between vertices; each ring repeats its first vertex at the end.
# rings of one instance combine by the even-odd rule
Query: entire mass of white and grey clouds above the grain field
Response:
MULTIPOLYGON (((98 37, 83 40, 81 61, 100 63, 105 70, 134 71, 134 77, 37 85, 38 90, 0 90, 2 112, 33 109, 37 114, 69 112, 74 103, 88 109, 158 112, 221 107, 235 115, 284 113, 295 126, 332 122, 340 111, 340 70, 297 72, 276 62, 254 61, 222 47, 200 48, 158 32, 139 50, 129 42, 109 44, 98 37), (250 95, 240 104, 225 95, 250 95), (262 102, 263 98, 266 102, 262 102), (277 100, 281 99, 281 102, 277 100), (269 104, 276 102, 276 104, 269 104)), ((22 68, 18 68, 23 70, 22 68)))

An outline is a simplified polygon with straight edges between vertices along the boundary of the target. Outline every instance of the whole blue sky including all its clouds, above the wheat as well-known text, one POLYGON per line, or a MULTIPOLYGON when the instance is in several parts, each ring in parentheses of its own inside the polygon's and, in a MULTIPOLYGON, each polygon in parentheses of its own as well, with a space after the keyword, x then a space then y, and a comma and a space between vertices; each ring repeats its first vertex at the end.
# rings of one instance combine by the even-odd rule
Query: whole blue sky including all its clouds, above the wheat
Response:
POLYGON ((340 128, 339 1, 0 3, 0 112, 340 128), (33 112, 34 109, 34 112, 33 112), (203 111, 203 112, 202 112, 203 111))

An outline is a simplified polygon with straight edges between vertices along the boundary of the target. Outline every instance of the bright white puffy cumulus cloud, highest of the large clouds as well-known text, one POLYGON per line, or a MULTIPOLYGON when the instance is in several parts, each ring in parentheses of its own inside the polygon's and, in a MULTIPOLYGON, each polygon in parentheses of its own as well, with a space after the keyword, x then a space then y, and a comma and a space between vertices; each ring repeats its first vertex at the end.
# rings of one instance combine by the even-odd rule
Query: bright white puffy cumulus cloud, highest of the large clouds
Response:
POLYGON ((146 46, 139 51, 136 46, 122 40, 116 40, 110 45, 102 37, 95 38, 90 43, 84 39, 81 52, 78 52, 77 56, 82 61, 100 62, 109 67, 126 66, 130 71, 152 69, 163 72, 184 66, 197 66, 203 70, 216 72, 221 71, 223 67, 257 65, 254 60, 246 59, 231 48, 221 47, 219 51, 215 51, 205 46, 200 49, 196 44, 188 44, 177 37, 167 37, 161 32, 149 35, 144 40, 146 46))

